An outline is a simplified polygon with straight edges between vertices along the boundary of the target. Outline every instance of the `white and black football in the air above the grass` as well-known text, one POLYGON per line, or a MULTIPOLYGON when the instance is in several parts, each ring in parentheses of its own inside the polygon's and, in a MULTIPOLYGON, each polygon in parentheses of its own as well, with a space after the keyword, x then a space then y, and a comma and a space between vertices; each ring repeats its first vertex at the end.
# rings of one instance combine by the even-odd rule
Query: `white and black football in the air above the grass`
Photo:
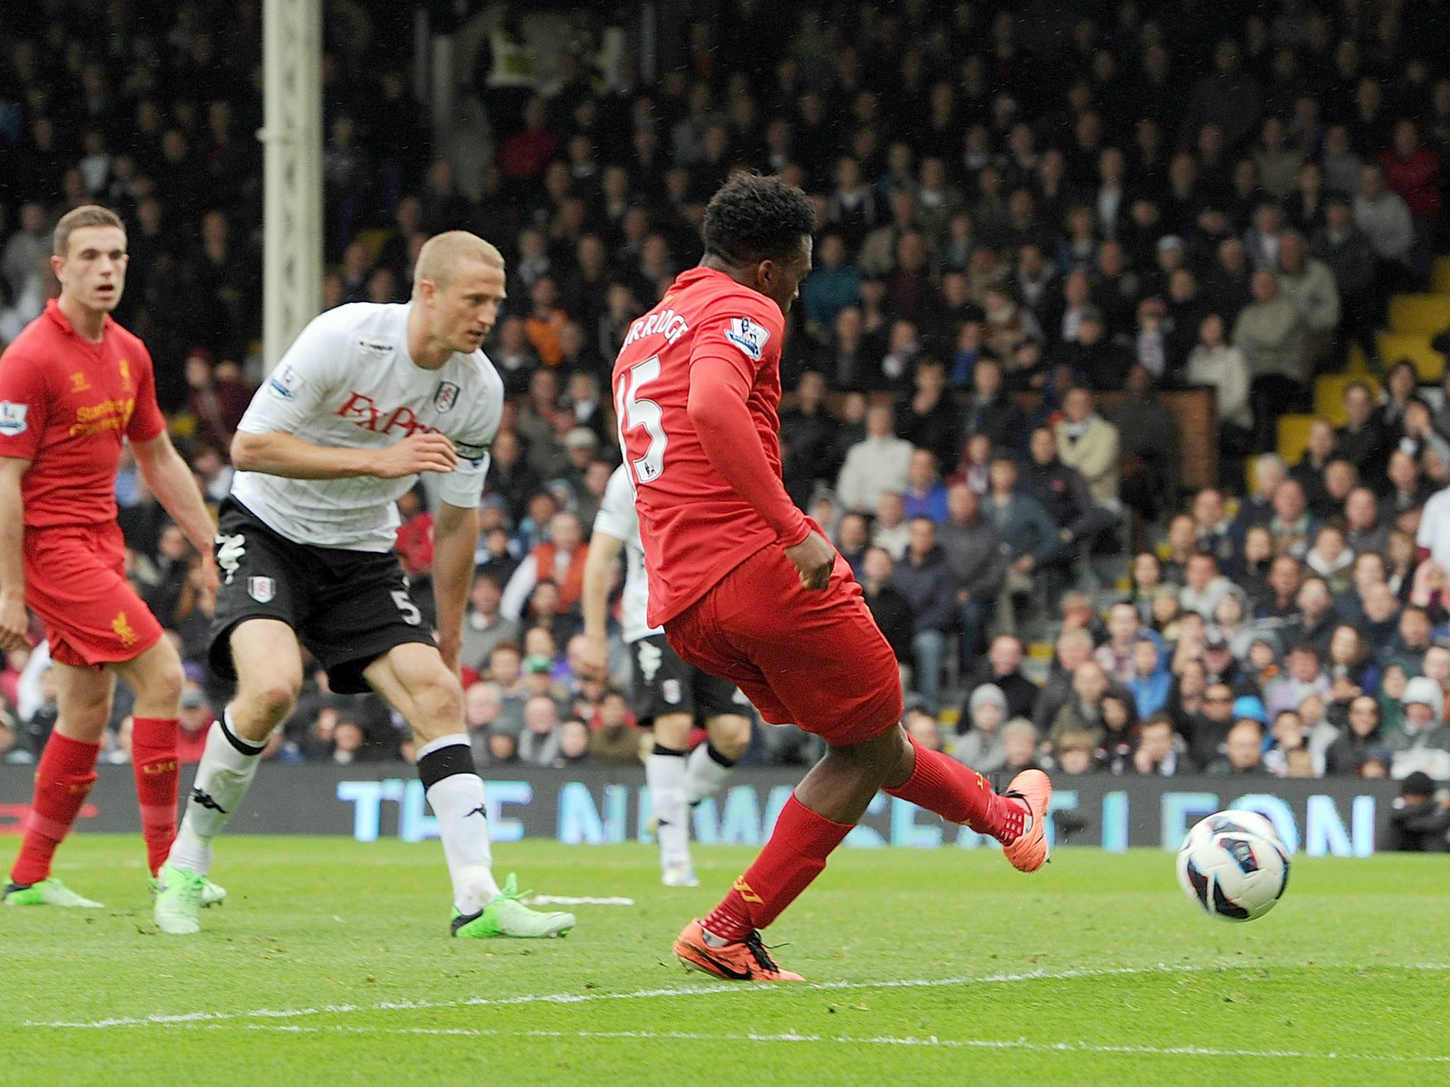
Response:
POLYGON ((1205 913, 1224 920, 1254 920, 1289 886, 1289 851, 1264 816, 1218 812, 1199 820, 1177 852, 1183 893, 1205 913))

